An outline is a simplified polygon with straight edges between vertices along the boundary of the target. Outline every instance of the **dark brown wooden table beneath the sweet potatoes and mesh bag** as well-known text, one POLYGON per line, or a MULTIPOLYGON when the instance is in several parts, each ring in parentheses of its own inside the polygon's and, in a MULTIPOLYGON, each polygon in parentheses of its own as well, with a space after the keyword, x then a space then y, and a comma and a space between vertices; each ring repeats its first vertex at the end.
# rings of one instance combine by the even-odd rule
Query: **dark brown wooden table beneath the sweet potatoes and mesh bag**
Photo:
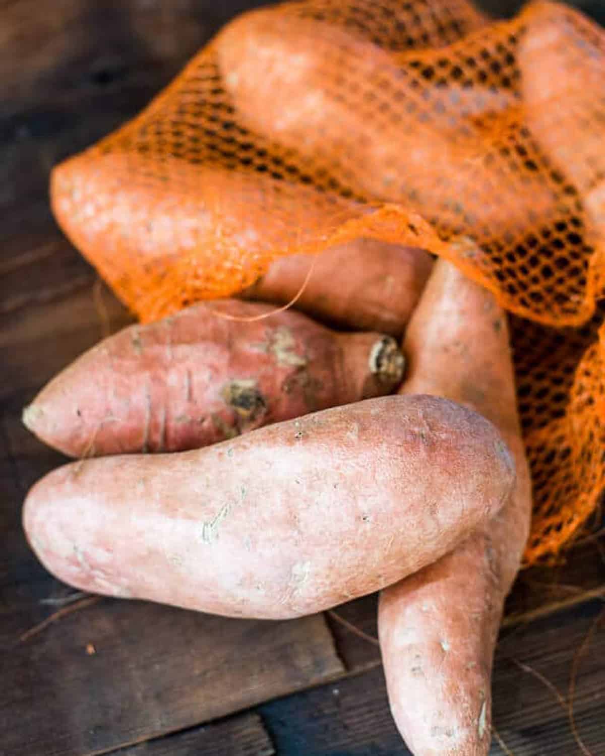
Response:
MULTIPOLYGON (((0 754, 406 754, 389 715, 376 597, 239 621, 82 597, 26 545, 27 489, 62 463, 20 411, 126 312, 60 234, 48 172, 132 116, 247 0, 0 3, 0 754)), ((605 753, 605 543, 518 581, 495 665, 517 756, 605 753), (553 688, 554 686, 554 688, 553 688)), ((493 753, 504 746, 495 740, 493 753)))

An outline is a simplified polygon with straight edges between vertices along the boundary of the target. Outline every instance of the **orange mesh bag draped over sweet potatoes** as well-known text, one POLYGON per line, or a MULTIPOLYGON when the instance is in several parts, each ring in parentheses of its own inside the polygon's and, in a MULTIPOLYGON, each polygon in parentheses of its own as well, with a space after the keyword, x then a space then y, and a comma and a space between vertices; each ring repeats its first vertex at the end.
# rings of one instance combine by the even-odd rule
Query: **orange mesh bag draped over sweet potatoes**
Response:
POLYGON ((465 0, 306 0, 226 26, 55 169, 51 197, 143 320, 361 236, 492 290, 513 316, 532 563, 603 489, 604 124, 605 36, 564 5, 492 22, 465 0))

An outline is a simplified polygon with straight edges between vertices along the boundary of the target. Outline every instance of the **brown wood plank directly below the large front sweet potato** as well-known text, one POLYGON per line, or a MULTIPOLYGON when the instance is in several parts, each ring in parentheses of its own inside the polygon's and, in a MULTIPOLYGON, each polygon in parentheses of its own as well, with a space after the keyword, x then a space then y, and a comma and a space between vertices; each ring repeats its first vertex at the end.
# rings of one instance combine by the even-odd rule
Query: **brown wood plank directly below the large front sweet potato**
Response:
POLYGON ((108 599, 3 651, 2 748, 28 756, 110 751, 343 674, 321 615, 238 621, 108 599))

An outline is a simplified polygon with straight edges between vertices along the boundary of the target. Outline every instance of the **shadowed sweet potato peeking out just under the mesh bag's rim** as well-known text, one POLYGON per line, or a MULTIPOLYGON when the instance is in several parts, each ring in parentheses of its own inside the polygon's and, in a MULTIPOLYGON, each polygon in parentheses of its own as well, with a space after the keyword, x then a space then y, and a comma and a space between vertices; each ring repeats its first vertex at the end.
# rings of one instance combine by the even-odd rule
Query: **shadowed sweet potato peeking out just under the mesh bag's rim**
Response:
POLYGON ((341 326, 400 336, 432 264, 423 249, 358 239, 318 256, 278 258, 241 296, 285 304, 302 290, 296 308, 303 312, 341 326))

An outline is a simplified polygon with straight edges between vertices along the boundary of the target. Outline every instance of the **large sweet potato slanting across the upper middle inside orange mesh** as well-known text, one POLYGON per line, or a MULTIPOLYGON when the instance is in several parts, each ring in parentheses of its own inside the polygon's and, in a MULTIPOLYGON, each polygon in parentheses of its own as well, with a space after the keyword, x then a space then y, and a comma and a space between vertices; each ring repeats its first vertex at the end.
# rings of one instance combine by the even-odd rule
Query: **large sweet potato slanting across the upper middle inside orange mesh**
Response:
POLYGON ((429 107, 402 57, 340 26, 253 11, 215 45, 240 119, 354 191, 491 237, 524 228, 528 206, 552 212, 548 185, 511 169, 499 137, 467 121, 451 129, 451 109, 429 107))

